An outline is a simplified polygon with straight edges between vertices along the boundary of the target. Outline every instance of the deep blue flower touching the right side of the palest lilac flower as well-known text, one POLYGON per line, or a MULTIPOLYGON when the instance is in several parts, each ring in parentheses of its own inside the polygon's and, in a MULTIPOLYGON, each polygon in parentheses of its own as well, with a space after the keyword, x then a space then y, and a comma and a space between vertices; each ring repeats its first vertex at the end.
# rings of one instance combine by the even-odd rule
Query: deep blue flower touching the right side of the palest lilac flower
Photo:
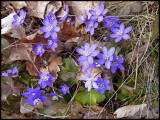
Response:
POLYGON ((101 94, 104 93, 105 90, 110 90, 110 86, 109 84, 109 80, 105 79, 103 80, 101 77, 98 77, 97 81, 96 81, 98 88, 94 88, 95 91, 99 91, 101 94))

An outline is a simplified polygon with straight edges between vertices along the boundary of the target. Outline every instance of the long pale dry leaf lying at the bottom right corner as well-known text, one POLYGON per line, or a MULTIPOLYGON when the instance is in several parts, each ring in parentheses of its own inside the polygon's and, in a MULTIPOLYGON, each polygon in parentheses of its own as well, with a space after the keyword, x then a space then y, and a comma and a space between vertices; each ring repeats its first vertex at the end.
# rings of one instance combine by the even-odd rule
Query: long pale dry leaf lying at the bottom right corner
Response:
POLYGON ((144 110, 145 107, 147 107, 147 104, 127 105, 127 106, 118 108, 114 112, 114 114, 117 115, 117 118, 133 116, 137 112, 144 110))

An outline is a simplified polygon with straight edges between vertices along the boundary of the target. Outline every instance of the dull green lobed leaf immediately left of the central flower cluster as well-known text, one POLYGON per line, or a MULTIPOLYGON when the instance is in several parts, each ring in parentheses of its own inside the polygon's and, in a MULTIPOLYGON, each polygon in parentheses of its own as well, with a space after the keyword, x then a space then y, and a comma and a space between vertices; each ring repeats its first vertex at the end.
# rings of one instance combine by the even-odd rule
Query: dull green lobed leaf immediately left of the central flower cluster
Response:
POLYGON ((63 67, 59 72, 59 75, 66 74, 67 72, 79 72, 80 67, 75 64, 75 62, 71 58, 64 58, 63 59, 63 67))

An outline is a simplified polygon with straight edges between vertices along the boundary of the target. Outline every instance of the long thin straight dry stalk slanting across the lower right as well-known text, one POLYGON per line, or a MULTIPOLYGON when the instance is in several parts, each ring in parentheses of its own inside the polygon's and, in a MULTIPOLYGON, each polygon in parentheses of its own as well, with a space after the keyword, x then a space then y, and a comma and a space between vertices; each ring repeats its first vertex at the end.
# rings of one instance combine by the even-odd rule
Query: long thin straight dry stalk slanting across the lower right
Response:
MULTIPOLYGON (((157 47, 158 43, 156 44, 155 47, 157 47)), ((153 48, 153 50, 155 49, 155 47, 153 48)), ((153 50, 148 54, 148 56, 153 52, 153 50)), ((139 66, 141 66, 141 64, 148 58, 148 56, 138 65, 138 68, 139 66)), ((131 75, 135 72, 135 70, 131 73, 131 75)), ((130 75, 130 76, 131 76, 130 75)), ((106 102, 106 104, 104 105, 104 107, 102 108, 102 110, 100 111, 98 117, 100 116, 101 112, 103 111, 103 109, 105 108, 105 106, 108 104, 108 102, 113 98, 113 96, 119 91, 119 89, 123 86, 123 84, 130 78, 130 76, 122 83, 122 85, 116 90, 116 92, 110 97, 110 99, 106 102)), ((98 118, 97 117, 97 118, 98 118)))

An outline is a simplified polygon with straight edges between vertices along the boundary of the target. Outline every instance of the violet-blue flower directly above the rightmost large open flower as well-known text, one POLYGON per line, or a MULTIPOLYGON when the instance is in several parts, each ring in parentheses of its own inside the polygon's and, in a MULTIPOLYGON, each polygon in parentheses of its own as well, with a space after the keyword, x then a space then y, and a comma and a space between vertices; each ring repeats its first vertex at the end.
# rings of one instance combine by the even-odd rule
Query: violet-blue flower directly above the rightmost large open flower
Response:
POLYGON ((106 26, 110 27, 110 29, 114 27, 119 27, 119 24, 117 23, 119 20, 118 16, 112 17, 111 15, 108 15, 107 18, 104 18, 104 21, 106 22, 106 26))

